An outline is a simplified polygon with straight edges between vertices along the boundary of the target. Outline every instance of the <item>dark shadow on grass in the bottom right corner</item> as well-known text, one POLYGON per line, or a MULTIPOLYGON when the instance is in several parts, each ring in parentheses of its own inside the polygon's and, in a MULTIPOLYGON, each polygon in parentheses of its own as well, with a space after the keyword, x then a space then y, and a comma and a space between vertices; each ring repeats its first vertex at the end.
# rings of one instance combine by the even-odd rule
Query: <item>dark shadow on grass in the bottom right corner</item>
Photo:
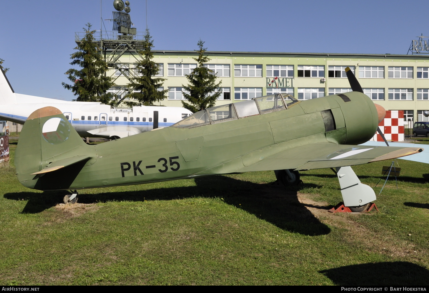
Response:
POLYGON ((405 261, 363 263, 319 272, 339 286, 429 285, 429 270, 405 261))

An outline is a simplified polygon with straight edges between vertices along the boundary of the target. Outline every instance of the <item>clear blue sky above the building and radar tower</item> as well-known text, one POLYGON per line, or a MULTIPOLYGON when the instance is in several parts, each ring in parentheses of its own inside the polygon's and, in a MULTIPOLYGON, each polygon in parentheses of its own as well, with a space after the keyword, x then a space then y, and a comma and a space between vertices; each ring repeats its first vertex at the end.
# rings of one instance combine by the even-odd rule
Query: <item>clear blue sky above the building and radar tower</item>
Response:
MULTIPOLYGON (((102 1, 112 18, 113 0, 102 1)), ((137 31, 145 0, 130 0, 137 31)), ((157 50, 406 54, 429 35, 426 1, 175 1, 148 0, 148 27, 157 50)), ((100 29, 100 0, 2 1, 0 58, 16 93, 71 100, 63 89, 74 33, 100 29)), ((107 30, 112 22, 104 21, 107 30)), ((104 28, 103 28, 104 30, 104 28)))

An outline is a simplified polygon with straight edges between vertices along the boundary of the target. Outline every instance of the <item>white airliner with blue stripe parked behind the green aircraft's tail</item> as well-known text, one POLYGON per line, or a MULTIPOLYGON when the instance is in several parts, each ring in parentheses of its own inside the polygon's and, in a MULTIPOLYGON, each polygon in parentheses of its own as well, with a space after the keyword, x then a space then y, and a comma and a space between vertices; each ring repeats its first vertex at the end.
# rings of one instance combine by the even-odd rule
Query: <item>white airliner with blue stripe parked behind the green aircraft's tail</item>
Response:
POLYGON ((24 124, 33 111, 52 106, 63 112, 82 137, 123 138, 154 128, 154 111, 158 127, 170 126, 192 114, 180 107, 138 106, 133 109, 111 109, 98 102, 68 102, 15 93, 0 74, 0 119, 24 124))

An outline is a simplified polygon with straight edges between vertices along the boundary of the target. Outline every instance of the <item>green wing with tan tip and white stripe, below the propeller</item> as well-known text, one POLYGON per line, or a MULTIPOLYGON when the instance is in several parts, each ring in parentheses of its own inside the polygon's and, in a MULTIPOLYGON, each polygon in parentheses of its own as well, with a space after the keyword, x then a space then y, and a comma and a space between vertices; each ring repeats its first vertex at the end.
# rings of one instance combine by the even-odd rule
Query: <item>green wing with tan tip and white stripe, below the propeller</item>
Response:
POLYGON ((239 172, 343 167, 398 158, 422 151, 421 147, 355 146, 329 142, 289 148, 277 145, 242 155, 244 167, 239 172))

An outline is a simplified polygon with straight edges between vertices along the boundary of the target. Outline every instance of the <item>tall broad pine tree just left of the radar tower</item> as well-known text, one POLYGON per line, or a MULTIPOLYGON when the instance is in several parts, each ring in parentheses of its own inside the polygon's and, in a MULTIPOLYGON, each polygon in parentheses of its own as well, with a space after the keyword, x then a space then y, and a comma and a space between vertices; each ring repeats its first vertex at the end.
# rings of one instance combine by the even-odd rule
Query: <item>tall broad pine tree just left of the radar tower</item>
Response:
POLYGON ((86 24, 85 37, 77 45, 77 52, 71 54, 71 65, 77 65, 82 69, 69 69, 65 73, 73 84, 61 83, 67 90, 72 90, 80 102, 101 102, 110 104, 112 93, 106 91, 115 85, 111 77, 105 76, 107 63, 103 59, 101 49, 94 42, 95 30, 91 30, 91 24, 86 24))

